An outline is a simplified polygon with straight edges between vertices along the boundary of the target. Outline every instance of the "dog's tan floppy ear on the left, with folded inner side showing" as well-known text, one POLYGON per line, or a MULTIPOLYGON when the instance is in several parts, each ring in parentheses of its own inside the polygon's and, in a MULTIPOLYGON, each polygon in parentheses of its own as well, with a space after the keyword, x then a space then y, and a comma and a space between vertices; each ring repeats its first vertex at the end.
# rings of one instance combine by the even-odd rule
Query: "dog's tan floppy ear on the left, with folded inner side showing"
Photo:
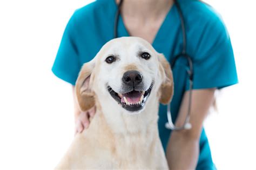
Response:
POLYGON ((91 89, 93 81, 91 73, 94 67, 94 59, 85 63, 76 81, 76 97, 81 111, 87 111, 95 105, 95 93, 91 89))

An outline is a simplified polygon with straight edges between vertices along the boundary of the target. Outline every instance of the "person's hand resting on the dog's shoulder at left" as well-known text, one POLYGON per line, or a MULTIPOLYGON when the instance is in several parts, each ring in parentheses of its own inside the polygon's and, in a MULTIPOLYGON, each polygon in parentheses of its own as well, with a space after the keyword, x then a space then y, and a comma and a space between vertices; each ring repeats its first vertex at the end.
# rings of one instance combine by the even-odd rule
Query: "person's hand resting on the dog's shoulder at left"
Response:
POLYGON ((93 106, 90 110, 86 112, 80 112, 78 117, 76 118, 76 129, 75 134, 83 132, 85 128, 89 127, 90 120, 93 118, 96 112, 96 107, 93 106))

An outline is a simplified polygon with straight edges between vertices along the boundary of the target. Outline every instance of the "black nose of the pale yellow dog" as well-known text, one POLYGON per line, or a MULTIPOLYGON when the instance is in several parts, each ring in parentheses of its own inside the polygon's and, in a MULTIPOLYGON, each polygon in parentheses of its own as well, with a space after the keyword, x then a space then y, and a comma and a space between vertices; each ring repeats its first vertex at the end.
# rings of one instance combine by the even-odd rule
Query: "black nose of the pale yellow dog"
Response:
POLYGON ((142 79, 142 74, 135 70, 125 72, 123 76, 123 82, 129 86, 136 86, 140 84, 142 79))

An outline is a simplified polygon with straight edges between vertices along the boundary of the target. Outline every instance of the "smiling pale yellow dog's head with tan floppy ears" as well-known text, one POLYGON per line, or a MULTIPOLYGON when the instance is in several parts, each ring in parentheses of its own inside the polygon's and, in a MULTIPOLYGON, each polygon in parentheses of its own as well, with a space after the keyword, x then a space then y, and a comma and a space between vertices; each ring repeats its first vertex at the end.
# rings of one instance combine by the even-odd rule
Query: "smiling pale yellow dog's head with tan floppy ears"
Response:
POLYGON ((165 57, 146 40, 122 37, 110 40, 89 63, 85 63, 76 82, 82 111, 95 105, 95 99, 139 113, 147 100, 158 98, 167 104, 173 95, 173 79, 165 57))

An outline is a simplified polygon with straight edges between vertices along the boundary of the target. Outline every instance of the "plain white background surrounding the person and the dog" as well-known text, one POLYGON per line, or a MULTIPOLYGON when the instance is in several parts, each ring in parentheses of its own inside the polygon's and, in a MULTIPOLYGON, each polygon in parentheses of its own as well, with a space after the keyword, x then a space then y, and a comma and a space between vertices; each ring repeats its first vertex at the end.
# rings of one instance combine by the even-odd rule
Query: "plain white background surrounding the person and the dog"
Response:
MULTIPOLYGON (((51 72, 73 11, 91 1, 0 1, 0 169, 52 169, 73 138, 71 86, 51 72)), ((205 121, 218 169, 256 169, 254 1, 208 0, 230 32, 239 84, 205 121)))

